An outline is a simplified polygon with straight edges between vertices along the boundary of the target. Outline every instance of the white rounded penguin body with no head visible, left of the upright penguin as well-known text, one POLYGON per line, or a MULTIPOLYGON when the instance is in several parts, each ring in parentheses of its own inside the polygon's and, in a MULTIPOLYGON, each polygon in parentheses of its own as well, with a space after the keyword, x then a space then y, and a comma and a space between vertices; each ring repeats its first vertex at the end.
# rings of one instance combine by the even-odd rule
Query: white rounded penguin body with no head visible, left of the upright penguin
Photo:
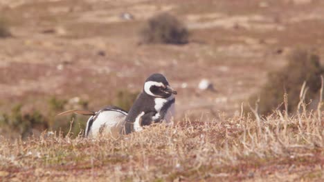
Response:
POLYGON ((108 105, 98 112, 89 110, 69 110, 57 114, 57 116, 71 113, 91 116, 87 121, 87 126, 84 131, 87 138, 98 138, 98 136, 102 134, 110 134, 114 139, 117 139, 122 133, 123 122, 127 116, 125 110, 114 105, 108 105))

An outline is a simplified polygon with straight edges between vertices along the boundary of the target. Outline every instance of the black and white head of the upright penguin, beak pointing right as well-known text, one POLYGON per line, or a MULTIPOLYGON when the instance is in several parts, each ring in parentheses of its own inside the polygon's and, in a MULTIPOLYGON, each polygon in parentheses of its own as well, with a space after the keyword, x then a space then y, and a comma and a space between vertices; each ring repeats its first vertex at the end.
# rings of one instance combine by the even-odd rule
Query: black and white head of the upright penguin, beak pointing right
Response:
POLYGON ((172 94, 177 94, 177 91, 173 90, 168 80, 163 74, 155 73, 148 77, 144 83, 143 91, 152 97, 168 98, 172 94))

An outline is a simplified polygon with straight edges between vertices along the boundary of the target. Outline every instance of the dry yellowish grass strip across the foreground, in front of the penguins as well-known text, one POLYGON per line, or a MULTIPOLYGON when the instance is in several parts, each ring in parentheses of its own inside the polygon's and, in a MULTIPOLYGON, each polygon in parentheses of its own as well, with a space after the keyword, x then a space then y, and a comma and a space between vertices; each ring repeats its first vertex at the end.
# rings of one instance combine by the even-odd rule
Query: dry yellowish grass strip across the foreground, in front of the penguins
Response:
MULTIPOLYGON (((321 116, 321 115, 319 115, 321 116)), ((323 117, 278 112, 154 125, 114 140, 1 139, 0 178, 72 181, 323 179, 323 117), (300 123, 301 121, 301 123, 300 123), (292 175, 294 174, 294 175, 292 175), (291 179, 289 179, 289 178, 291 179)))

